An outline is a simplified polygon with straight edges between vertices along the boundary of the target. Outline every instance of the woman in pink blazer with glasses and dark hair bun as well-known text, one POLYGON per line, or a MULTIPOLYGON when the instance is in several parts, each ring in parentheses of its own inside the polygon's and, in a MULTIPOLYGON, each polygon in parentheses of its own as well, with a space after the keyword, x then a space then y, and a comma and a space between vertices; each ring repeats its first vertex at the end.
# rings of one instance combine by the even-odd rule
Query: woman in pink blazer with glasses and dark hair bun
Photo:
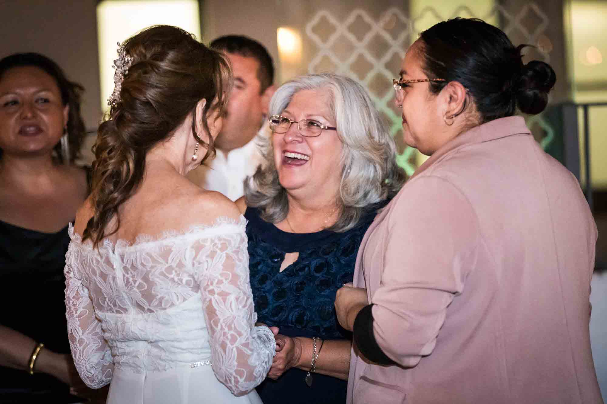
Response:
POLYGON ((348 403, 602 402, 588 331, 597 229, 574 176, 514 116, 541 112, 555 82, 521 49, 456 18, 402 61, 404 139, 430 158, 337 292, 354 333, 348 403))

